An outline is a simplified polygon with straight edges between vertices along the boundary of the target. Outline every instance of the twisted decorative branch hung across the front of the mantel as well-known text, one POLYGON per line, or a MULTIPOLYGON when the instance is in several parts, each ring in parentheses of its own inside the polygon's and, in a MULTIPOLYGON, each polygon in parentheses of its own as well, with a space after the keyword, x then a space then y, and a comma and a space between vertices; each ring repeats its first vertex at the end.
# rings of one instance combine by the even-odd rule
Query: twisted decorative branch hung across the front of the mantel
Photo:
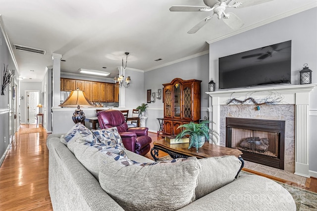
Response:
MULTIPOLYGON (((251 92, 251 93, 247 93, 246 94, 246 99, 245 100, 239 100, 237 98, 231 98, 227 101, 227 105, 230 103, 233 104, 254 104, 254 105, 264 105, 264 104, 269 104, 269 105, 273 105, 276 104, 278 102, 281 102, 284 99, 284 96, 282 96, 281 94, 277 93, 277 92, 269 92, 270 94, 263 98, 263 99, 255 99, 252 97, 252 94, 254 94, 255 92, 251 92)), ((233 93, 232 93, 233 94, 233 93)))

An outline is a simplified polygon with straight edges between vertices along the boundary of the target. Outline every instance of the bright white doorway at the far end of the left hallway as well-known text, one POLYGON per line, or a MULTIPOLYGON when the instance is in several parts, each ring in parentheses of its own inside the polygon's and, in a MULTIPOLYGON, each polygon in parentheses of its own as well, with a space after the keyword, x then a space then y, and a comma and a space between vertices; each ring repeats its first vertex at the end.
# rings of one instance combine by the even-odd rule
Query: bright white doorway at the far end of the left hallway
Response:
POLYGON ((36 124, 36 114, 39 113, 39 96, 40 91, 25 91, 26 100, 26 112, 25 112, 25 122, 27 124, 36 124))

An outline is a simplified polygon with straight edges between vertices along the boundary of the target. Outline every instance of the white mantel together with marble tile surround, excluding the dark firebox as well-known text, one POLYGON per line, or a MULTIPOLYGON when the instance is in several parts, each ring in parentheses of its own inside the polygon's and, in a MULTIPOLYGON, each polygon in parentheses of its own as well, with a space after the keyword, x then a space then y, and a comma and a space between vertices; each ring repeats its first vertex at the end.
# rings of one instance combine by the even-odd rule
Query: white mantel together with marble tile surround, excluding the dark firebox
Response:
POLYGON ((285 128, 287 136, 285 138, 288 139, 289 146, 288 149, 285 146, 287 157, 285 170, 293 171, 294 174, 300 176, 310 177, 308 160, 309 93, 315 86, 316 84, 283 85, 206 92, 211 96, 211 106, 208 108, 209 117, 215 123, 212 124, 213 129, 220 132, 219 144, 224 145, 225 132, 222 131, 225 130, 225 116, 285 120, 285 123, 288 124, 285 128), (261 99, 272 95, 281 96, 282 99, 272 105, 261 105, 259 111, 255 109, 256 106, 251 101, 243 105, 237 103, 227 105, 228 100, 233 98, 243 101, 252 97, 259 102, 261 99), (266 110, 266 112, 263 112, 263 110, 266 110), (292 140, 293 144, 291 143, 292 140))

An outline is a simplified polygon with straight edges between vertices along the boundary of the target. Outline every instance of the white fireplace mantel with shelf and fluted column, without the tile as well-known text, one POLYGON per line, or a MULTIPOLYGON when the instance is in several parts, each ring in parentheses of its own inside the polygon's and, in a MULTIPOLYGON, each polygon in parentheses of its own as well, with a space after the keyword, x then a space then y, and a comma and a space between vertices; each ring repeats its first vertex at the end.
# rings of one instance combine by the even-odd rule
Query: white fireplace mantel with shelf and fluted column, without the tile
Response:
MULTIPOLYGON (((293 104, 295 105, 295 174, 309 176, 309 93, 317 84, 302 85, 281 85, 252 87, 243 89, 226 89, 213 92, 206 92, 211 96, 209 117, 215 123, 213 128, 220 131, 220 106, 227 105, 228 100, 236 98, 245 100, 246 97, 254 99, 264 99, 274 93, 280 95, 282 99, 274 105, 293 104)), ((252 103, 247 103, 252 104, 252 103)), ((230 104, 235 105, 235 104, 230 104)), ((237 104, 238 105, 238 104, 237 104)), ((239 104, 240 105, 240 104, 239 104)))

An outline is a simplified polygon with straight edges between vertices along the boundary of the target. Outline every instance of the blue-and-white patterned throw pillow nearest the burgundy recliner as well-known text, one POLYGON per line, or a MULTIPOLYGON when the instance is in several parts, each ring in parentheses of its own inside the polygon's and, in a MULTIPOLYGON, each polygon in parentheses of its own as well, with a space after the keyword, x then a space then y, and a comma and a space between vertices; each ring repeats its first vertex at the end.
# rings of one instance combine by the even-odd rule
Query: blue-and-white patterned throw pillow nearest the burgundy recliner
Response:
POLYGON ((123 143, 121 136, 119 135, 117 127, 110 127, 107 129, 101 130, 92 130, 95 136, 101 143, 104 143, 108 146, 114 146, 116 144, 120 144, 123 148, 123 143))

